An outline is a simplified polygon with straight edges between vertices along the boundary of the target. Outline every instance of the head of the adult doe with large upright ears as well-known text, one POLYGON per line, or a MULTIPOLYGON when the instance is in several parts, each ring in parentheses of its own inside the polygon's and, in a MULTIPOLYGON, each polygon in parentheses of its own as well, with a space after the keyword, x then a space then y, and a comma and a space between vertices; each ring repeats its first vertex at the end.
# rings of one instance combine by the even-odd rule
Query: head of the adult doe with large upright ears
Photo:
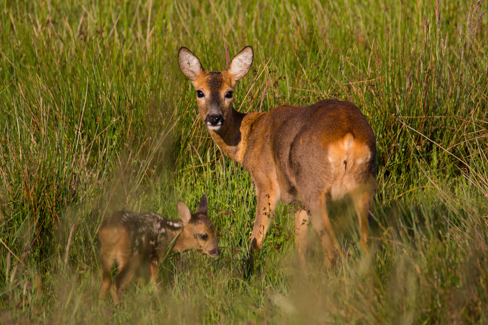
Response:
POLYGON ((219 131, 230 117, 234 87, 251 69, 253 56, 252 47, 246 46, 224 71, 205 71, 198 57, 186 47, 180 48, 180 70, 197 91, 198 111, 208 130, 219 131))

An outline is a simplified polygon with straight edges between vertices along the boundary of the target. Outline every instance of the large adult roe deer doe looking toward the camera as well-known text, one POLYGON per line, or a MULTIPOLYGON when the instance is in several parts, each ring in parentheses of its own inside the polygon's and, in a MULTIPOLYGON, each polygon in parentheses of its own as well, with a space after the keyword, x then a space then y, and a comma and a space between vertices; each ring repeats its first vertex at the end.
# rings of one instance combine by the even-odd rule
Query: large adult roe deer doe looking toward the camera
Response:
POLYGON ((186 47, 178 53, 183 75, 197 93, 200 117, 225 155, 242 164, 256 187, 256 220, 250 257, 261 248, 269 215, 279 200, 301 202, 295 214, 295 246, 303 260, 310 219, 319 233, 325 265, 332 267, 338 244, 325 204, 350 194, 367 248, 368 213, 376 192, 376 139, 353 103, 322 100, 310 106, 280 106, 264 113, 233 109, 233 90, 253 61, 246 46, 222 72, 207 72, 186 47))

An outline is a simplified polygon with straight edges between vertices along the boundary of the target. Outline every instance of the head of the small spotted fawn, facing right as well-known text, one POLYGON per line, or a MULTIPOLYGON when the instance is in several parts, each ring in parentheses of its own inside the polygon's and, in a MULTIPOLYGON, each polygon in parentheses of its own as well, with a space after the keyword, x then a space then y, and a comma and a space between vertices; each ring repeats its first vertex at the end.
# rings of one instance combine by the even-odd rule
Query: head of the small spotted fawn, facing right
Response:
POLYGON ((178 201, 176 210, 183 220, 183 230, 175 245, 178 246, 176 249, 195 249, 208 256, 217 257, 220 249, 215 226, 207 217, 207 195, 203 194, 197 212, 194 214, 190 213, 182 201, 178 201))

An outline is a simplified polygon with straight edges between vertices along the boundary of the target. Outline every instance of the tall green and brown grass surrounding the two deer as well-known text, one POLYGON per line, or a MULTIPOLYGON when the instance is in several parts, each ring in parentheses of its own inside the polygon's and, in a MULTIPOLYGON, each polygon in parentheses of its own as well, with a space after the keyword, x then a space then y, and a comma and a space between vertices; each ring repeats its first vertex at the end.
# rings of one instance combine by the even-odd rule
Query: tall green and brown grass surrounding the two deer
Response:
POLYGON ((1 323, 488 322, 487 2, 0 7, 1 323), (344 258, 325 270, 314 250, 302 268, 293 207, 279 206, 256 272, 243 278, 250 177, 197 119, 176 61, 186 46, 222 70, 224 42, 231 56, 254 48, 240 111, 325 98, 362 109, 378 142, 369 257, 355 247, 346 202, 330 207, 344 258), (122 209, 176 218, 177 200, 195 209, 203 193, 221 257, 172 255, 163 289, 98 301, 102 218, 122 209))

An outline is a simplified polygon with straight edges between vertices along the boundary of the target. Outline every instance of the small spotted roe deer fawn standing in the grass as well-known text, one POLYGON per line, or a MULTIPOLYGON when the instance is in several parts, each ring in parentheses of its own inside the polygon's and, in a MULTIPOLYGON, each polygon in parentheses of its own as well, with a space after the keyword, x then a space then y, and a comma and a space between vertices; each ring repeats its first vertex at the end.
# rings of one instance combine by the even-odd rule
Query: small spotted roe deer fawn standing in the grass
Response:
POLYGON ((195 214, 182 201, 176 207, 181 218, 178 221, 164 219, 154 212, 125 211, 114 212, 103 221, 99 229, 101 299, 112 286, 110 272, 114 264, 119 265, 112 291, 116 304, 136 271, 146 282, 154 281, 158 264, 175 239, 171 251, 196 249, 211 257, 220 254, 214 224, 206 215, 207 196, 203 194, 195 214))

